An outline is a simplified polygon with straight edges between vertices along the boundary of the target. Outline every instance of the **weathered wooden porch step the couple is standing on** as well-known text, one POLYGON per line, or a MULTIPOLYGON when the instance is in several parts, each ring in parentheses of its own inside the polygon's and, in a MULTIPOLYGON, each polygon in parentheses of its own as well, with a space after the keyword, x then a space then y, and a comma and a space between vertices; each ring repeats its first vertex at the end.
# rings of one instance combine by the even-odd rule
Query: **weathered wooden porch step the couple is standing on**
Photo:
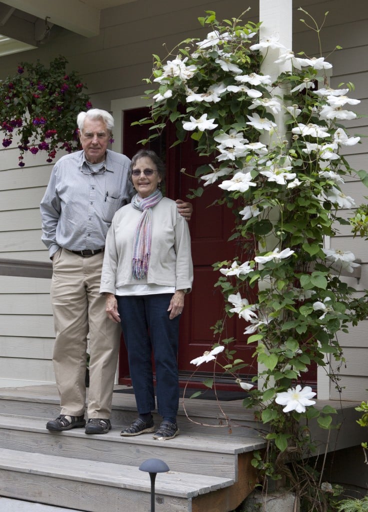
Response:
POLYGON ((151 434, 120 436, 121 425, 104 435, 86 435, 84 429, 49 432, 45 420, 0 415, 0 447, 78 459, 139 466, 150 458, 164 460, 172 471, 203 475, 238 477, 238 455, 262 449, 264 441, 253 435, 213 432, 194 434, 189 422, 179 423, 181 433, 169 441, 151 434), (193 461, 196 461, 194 464, 193 461))

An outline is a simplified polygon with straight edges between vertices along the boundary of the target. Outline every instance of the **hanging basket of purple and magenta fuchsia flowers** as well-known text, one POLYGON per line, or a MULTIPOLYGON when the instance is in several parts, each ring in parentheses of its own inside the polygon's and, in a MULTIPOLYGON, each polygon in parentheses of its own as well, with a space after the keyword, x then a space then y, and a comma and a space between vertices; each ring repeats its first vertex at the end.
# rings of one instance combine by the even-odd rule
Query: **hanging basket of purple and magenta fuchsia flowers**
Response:
POLYGON ((45 151, 51 163, 58 150, 71 153, 79 147, 76 117, 92 104, 78 74, 67 74, 67 63, 62 56, 49 68, 39 60, 20 62, 15 75, 0 83, 2 143, 4 147, 17 143, 19 167, 25 166, 27 152, 45 151))

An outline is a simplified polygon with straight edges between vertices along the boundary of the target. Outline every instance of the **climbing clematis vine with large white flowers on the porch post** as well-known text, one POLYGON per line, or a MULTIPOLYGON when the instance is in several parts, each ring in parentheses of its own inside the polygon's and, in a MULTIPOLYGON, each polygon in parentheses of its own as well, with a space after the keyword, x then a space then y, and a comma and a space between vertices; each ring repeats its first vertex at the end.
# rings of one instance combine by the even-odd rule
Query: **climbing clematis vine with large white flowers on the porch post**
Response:
MULTIPOLYGON (((167 120, 175 123, 175 144, 192 139, 202 159, 193 176, 201 186, 193 197, 201 201, 215 187, 214 207, 226 204, 234 214, 228 233, 234 252, 213 264, 214 292, 224 297, 221 317, 211 326, 214 345, 191 362, 217 365, 216 356, 224 351, 227 375, 249 392, 245 407, 270 425, 264 458, 252 463, 264 477, 268 471, 275 477, 277 464, 290 461, 279 457, 289 439, 300 450, 293 460, 308 456, 307 431, 300 432, 295 414, 286 416, 279 406, 300 415, 313 407, 315 392, 301 385, 306 370, 314 364, 333 372, 332 361, 343 361, 339 331, 368 316, 368 294, 356 300, 340 280, 341 268, 356 268, 354 254, 326 247, 340 224, 347 229, 339 209, 355 208, 345 177, 368 183, 368 173, 356 172, 347 158, 360 138, 353 127, 343 126, 355 119, 359 100, 350 98, 350 82, 340 89, 329 86, 332 65, 322 52, 295 54, 280 44, 278 34, 259 40, 259 25, 242 25, 239 19, 221 24, 212 11, 200 23, 211 27, 204 39, 186 40, 162 62, 157 58, 153 81, 159 87, 147 92, 154 122, 147 140, 160 134, 167 120), (275 60, 283 67, 272 79, 263 72, 269 49, 278 51, 275 60), (291 71, 285 71, 286 63, 291 71), (167 91, 172 96, 165 99, 167 91), (284 117, 280 113, 286 119, 283 131, 276 124, 284 117), (235 332, 246 339, 235 340, 235 332), (253 348, 253 364, 243 361, 244 352, 237 356, 235 342, 241 350, 253 348), (248 384, 249 376, 257 386, 248 384)), ((366 210, 359 213, 356 229, 363 229, 367 217, 366 210)), ((332 422, 328 414, 315 409, 304 417, 326 428, 332 422)), ((311 496, 314 506, 316 492, 311 496)))

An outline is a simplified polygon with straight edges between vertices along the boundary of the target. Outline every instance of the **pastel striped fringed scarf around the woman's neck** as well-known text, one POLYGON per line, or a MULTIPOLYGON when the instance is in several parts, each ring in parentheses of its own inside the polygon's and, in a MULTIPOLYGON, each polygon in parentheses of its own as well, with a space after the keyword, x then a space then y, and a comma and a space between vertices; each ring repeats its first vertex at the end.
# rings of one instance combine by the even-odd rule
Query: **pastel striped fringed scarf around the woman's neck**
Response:
POLYGON ((153 194, 146 198, 139 198, 138 194, 132 199, 132 205, 137 210, 142 211, 139 219, 133 242, 133 262, 132 271, 134 279, 143 279, 148 272, 149 258, 151 255, 151 237, 152 237, 152 210, 162 199, 160 190, 155 190, 153 194))

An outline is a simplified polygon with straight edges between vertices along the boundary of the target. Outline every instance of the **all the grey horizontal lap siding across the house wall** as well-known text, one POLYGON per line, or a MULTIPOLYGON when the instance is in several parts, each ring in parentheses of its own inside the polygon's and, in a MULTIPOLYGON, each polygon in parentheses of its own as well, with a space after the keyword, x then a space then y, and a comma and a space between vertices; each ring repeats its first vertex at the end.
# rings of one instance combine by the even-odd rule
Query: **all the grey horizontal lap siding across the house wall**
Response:
MULTIPOLYGON (((323 54, 328 55, 336 45, 343 47, 328 57, 334 65, 331 84, 352 81, 355 91, 352 97, 362 100, 357 111, 368 110, 368 60, 366 24, 368 3, 352 0, 349 8, 343 0, 293 1, 294 50, 306 51, 310 56, 318 55, 317 38, 300 18, 307 15, 298 11, 302 6, 310 12, 317 23, 329 11, 321 32, 323 54)), ((218 19, 239 16, 248 6, 251 10, 243 20, 258 20, 258 0, 187 0, 185 3, 166 0, 137 0, 122 6, 101 11, 100 33, 96 37, 84 38, 71 32, 55 31, 47 45, 24 54, 1 58, 0 78, 14 73, 20 60, 39 58, 45 63, 62 54, 69 61, 70 70, 79 70, 88 85, 93 105, 110 110, 111 101, 143 95, 147 85, 142 81, 152 71, 152 54, 165 57, 180 41, 187 37, 204 37, 211 29, 201 28, 197 18, 206 10, 213 10, 218 19), (163 46, 165 44, 165 47, 163 46)), ((175 52, 174 52, 175 55, 175 52)), ((117 120, 119 122, 119 120, 117 120)), ((350 135, 368 134, 366 119, 346 123, 350 135)), ((362 144, 345 150, 350 165, 355 169, 367 169, 367 139, 362 144)), ((26 156, 27 167, 17 167, 16 146, 1 151, 0 159, 0 257, 49 261, 48 253, 40 241, 40 218, 38 205, 47 185, 51 167, 45 164, 42 154, 26 156)), ((349 178, 344 186, 345 194, 356 202, 368 195, 356 179, 349 178)), ((349 212, 343 211, 344 217, 349 212)), ((353 250, 363 262, 360 283, 344 278, 358 290, 368 288, 368 261, 366 242, 353 239, 346 226, 342 226, 332 247, 353 250)), ((53 324, 49 304, 50 281, 47 279, 11 278, 0 276, 2 305, 0 306, 0 375, 3 369, 18 375, 18 366, 24 377, 35 380, 42 375, 51 378, 51 353, 53 324), (30 364, 30 361, 33 361, 30 364), (8 363, 8 365, 7 365, 8 363), (45 366, 42 366, 45 365, 45 366), (27 369, 26 369, 27 367, 27 369)), ((346 398, 357 398, 365 394, 365 382, 361 356, 366 350, 368 321, 352 328, 351 334, 341 333, 340 342, 347 350, 347 368, 341 368, 342 379, 348 379, 346 398), (348 390, 349 387, 349 390, 348 390), (354 396, 353 396, 354 395, 354 396)), ((366 353, 366 352, 365 352, 366 353)), ((7 373, 7 375, 8 375, 7 373)), ((7 379, 9 377, 6 377, 7 379)), ((0 380, 1 385, 1 380, 0 380)), ((332 391, 334 393, 334 391, 332 391)))

